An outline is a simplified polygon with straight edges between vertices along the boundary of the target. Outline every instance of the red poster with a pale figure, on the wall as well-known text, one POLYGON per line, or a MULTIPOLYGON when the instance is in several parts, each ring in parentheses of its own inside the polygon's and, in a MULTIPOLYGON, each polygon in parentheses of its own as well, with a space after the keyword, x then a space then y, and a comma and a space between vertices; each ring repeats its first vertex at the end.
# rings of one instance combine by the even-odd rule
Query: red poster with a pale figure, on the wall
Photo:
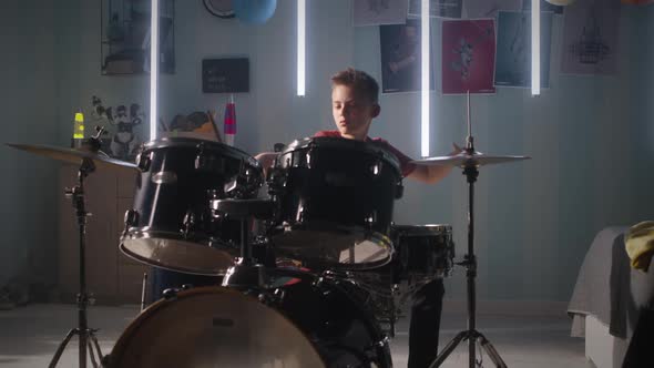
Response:
POLYGON ((494 19, 442 22, 442 93, 494 93, 494 19))

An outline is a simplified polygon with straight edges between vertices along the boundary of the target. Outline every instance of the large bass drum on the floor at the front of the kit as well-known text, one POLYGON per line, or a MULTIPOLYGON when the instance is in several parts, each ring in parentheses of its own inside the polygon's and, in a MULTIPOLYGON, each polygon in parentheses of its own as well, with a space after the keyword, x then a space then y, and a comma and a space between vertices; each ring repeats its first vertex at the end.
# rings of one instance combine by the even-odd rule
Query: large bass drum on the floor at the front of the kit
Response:
POLYGON ((200 287, 159 300, 127 327, 105 366, 392 366, 387 339, 337 283, 302 274, 282 282, 263 293, 200 287))

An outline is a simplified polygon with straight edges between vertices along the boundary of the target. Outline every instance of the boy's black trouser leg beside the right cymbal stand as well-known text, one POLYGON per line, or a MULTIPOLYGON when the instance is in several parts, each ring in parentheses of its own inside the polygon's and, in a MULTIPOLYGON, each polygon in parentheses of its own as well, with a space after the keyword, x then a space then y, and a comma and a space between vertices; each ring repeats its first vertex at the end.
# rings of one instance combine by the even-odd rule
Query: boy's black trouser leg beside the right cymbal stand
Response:
POLYGON ((438 334, 444 286, 436 279, 413 296, 409 326, 408 368, 427 368, 438 355, 438 334))

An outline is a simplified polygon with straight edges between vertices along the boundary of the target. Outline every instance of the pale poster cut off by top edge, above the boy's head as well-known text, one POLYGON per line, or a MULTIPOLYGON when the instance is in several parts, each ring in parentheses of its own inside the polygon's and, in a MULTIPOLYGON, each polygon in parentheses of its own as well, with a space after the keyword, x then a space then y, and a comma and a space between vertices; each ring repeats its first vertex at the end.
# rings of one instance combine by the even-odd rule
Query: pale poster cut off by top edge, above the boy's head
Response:
POLYGON ((358 25, 403 24, 408 0, 354 1, 354 23, 358 25))

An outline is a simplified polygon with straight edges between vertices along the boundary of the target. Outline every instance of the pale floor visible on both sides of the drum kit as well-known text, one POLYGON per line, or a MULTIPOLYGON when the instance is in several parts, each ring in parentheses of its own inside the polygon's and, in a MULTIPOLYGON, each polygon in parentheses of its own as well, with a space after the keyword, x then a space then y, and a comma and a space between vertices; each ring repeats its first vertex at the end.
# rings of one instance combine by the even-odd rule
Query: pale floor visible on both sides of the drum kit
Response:
MULTIPOLYGON (((102 351, 109 352, 136 316, 135 306, 91 307, 89 324, 100 328, 102 351)), ((76 325, 73 305, 29 305, 0 310, 0 367, 47 367, 65 334, 76 325)), ((440 348, 461 329, 464 316, 443 315, 440 348)), ((478 329, 494 345, 509 367, 592 367, 584 357, 584 341, 569 336, 570 320, 560 317, 478 316, 478 329)), ((407 319, 397 326, 391 343, 395 367, 407 365, 407 319)), ((58 367, 78 367, 78 340, 73 338, 58 367)), ((468 347, 459 345, 441 367, 468 367, 468 347)), ((91 367, 91 365, 89 365, 91 367)), ((483 367, 493 367, 483 356, 483 367)))

